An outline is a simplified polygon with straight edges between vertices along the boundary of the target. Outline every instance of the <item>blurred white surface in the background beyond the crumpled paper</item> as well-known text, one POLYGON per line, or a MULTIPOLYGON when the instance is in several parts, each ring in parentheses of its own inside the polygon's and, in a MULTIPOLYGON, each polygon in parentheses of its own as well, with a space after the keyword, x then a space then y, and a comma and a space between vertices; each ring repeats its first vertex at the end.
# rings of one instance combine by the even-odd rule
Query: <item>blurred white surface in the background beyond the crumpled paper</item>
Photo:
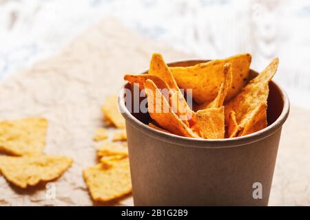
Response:
POLYGON ((310 109, 309 0, 0 0, 0 80, 110 16, 200 58, 250 52, 260 71, 278 56, 276 81, 310 109))

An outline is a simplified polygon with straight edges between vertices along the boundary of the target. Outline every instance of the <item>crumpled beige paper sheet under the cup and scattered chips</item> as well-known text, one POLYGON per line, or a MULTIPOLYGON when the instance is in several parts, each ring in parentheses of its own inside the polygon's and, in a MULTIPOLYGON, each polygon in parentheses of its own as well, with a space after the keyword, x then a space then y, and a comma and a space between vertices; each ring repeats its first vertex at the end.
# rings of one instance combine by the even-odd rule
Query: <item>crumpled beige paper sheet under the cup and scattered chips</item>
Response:
MULTIPOLYGON (((90 199, 82 170, 96 164, 92 136, 103 125, 101 104, 119 91, 124 74, 147 69, 153 52, 163 53, 169 62, 193 58, 105 19, 59 54, 0 82, 0 120, 48 118, 45 153, 74 158, 73 166, 54 181, 54 199, 46 197, 45 186, 21 190, 0 177, 0 206, 98 205, 90 199)), ((309 124, 309 111, 292 109, 282 133, 270 205, 310 204, 309 124), (308 122, 305 130, 301 122, 308 122)), ((127 197, 108 204, 133 202, 127 197)))

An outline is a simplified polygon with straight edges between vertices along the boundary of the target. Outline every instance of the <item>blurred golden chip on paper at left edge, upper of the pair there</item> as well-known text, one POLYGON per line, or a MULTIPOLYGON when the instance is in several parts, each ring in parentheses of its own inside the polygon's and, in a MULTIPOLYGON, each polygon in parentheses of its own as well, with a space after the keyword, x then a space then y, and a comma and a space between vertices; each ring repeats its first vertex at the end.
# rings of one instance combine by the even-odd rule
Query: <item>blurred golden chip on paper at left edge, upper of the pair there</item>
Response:
POLYGON ((0 151, 10 155, 40 155, 45 146, 48 120, 27 118, 0 122, 0 151))

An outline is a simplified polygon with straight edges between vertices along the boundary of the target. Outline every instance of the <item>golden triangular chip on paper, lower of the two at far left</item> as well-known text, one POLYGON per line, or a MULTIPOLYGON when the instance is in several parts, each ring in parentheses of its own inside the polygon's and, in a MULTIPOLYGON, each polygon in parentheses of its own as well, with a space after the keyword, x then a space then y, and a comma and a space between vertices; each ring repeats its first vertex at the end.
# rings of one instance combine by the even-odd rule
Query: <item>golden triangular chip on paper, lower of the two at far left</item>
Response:
POLYGON ((0 172, 12 184, 27 188, 60 177, 72 162, 61 156, 0 156, 0 172))

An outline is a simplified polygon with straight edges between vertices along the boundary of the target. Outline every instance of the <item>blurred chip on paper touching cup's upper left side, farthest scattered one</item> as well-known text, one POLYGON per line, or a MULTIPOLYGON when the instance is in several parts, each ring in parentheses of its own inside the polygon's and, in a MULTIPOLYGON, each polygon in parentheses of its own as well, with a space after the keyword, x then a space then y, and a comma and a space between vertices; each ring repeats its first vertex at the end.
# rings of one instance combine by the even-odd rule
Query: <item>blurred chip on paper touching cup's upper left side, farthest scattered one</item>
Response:
POLYGON ((110 120, 117 128, 125 127, 125 120, 121 113, 118 111, 117 96, 107 96, 105 104, 103 104, 102 111, 105 118, 110 120))

